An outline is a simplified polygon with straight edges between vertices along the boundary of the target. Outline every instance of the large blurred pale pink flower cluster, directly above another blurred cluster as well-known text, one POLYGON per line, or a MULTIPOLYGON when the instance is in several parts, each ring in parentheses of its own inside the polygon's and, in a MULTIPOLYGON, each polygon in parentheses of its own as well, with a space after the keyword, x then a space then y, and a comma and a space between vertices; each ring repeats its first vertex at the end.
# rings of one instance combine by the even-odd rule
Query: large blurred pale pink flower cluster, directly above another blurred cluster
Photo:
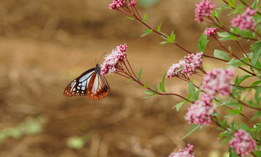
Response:
POLYGON ((213 69, 207 72, 203 77, 201 89, 209 95, 215 96, 220 94, 226 96, 231 93, 231 78, 234 76, 234 68, 229 69, 213 69))

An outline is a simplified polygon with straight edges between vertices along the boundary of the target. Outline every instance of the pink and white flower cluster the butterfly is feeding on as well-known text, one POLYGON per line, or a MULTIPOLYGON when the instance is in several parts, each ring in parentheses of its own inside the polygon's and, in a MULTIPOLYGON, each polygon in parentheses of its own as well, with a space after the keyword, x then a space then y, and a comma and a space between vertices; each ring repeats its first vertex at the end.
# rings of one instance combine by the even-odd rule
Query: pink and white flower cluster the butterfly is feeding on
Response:
POLYGON ((107 73, 114 73, 117 70, 119 62, 123 61, 126 57, 125 50, 127 49, 127 45, 117 46, 116 49, 113 49, 112 52, 104 58, 105 61, 100 65, 102 75, 107 73))

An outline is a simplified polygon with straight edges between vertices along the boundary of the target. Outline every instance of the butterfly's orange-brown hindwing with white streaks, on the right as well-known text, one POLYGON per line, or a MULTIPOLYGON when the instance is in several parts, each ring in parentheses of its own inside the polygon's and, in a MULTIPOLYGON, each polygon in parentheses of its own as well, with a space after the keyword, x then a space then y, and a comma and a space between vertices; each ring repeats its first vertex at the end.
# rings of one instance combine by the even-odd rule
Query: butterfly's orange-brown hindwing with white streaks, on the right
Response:
POLYGON ((110 86, 105 77, 94 72, 87 87, 87 96, 93 100, 100 100, 110 92, 110 86))

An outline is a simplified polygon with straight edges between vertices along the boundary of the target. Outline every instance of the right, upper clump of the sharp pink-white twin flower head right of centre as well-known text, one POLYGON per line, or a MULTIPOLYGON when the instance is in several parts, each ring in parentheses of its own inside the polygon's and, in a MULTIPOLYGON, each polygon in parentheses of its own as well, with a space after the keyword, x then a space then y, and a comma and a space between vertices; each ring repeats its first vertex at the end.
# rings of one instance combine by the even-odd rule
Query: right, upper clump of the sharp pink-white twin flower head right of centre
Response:
POLYGON ((202 56, 203 52, 197 53, 197 54, 189 54, 188 56, 185 56, 183 64, 183 69, 180 71, 180 73, 185 74, 188 73, 188 76, 192 75, 193 72, 200 67, 202 63, 202 56))

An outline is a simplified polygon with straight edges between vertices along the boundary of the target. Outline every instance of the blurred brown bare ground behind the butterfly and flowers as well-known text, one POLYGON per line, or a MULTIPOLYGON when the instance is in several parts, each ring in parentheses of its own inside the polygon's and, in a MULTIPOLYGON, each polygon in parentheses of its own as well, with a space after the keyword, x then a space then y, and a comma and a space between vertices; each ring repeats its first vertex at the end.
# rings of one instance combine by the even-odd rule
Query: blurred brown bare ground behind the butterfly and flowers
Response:
MULTIPOLYGON (((126 52, 134 71, 143 67, 141 81, 149 79, 149 86, 158 85, 171 63, 187 55, 173 44, 159 45, 163 38, 157 34, 140 37, 145 26, 108 9, 110 3, 0 2, 0 156, 166 157, 185 148, 186 143, 194 145, 196 156, 226 153, 226 144, 217 148, 221 140, 213 125, 200 135, 195 131, 182 139, 190 128, 184 120, 190 104, 177 112, 172 107, 182 101, 179 97, 142 99, 146 96, 143 88, 135 82, 124 84, 127 79, 116 74, 106 76, 111 91, 100 101, 63 96, 70 81, 95 66, 95 58, 120 44, 128 45, 126 52), (72 137, 82 137, 86 144, 81 149, 70 148, 67 141, 72 137)), ((169 34, 174 29, 176 42, 197 52, 198 39, 207 25, 193 20, 195 3, 198 1, 163 0, 138 8, 142 16, 148 13, 151 27, 156 28, 163 19, 162 32, 169 34)), ((207 53, 212 55, 218 48, 210 41, 207 53)), ((225 67, 210 59, 204 60, 204 66, 206 71, 225 67)), ((195 79, 198 85, 200 81, 195 79)), ((167 79, 166 91, 187 97, 184 84, 167 79)), ((76 140, 73 145, 81 142, 76 140)))

